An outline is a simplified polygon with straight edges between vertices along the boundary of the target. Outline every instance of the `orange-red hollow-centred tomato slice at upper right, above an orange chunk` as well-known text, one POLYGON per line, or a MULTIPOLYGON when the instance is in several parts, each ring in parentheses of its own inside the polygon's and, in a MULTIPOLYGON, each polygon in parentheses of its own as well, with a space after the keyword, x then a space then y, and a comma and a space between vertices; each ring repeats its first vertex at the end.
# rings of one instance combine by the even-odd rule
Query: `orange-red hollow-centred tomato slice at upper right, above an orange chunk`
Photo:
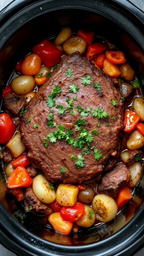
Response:
POLYGON ((106 51, 106 59, 113 64, 122 64, 126 62, 122 51, 106 51))

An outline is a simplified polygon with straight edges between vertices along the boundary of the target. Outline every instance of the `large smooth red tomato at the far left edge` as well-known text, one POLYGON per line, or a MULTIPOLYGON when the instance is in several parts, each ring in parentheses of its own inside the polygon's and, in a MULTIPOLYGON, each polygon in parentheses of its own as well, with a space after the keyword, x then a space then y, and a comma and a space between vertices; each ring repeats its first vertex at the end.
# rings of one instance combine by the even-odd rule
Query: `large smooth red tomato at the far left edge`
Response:
POLYGON ((7 143, 15 133, 15 125, 10 115, 0 114, 0 143, 7 143))

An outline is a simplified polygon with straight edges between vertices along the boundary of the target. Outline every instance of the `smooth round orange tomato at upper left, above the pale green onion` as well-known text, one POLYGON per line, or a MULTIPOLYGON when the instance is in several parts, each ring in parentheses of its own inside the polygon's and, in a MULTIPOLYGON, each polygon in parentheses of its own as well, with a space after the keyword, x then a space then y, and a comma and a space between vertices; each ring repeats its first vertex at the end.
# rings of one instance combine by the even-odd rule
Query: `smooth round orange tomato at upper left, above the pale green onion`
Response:
POLYGON ((41 66, 42 60, 37 54, 29 54, 22 63, 22 73, 24 75, 35 75, 41 66))

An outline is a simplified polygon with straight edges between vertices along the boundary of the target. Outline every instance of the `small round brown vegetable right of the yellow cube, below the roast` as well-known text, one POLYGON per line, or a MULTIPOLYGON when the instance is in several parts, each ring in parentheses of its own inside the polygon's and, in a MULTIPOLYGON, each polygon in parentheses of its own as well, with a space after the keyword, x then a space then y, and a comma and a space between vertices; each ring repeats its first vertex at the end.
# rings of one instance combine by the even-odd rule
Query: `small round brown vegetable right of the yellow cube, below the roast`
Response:
POLYGON ((94 196, 95 196, 95 191, 90 186, 87 186, 85 190, 78 192, 78 200, 83 204, 90 204, 94 196))

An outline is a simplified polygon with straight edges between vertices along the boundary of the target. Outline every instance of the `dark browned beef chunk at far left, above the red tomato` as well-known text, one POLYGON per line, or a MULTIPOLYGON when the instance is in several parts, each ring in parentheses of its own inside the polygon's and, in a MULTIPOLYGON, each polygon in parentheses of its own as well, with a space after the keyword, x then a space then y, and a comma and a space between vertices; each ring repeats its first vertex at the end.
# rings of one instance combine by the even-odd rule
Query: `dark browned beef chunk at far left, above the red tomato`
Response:
POLYGON ((9 93, 5 99, 4 104, 7 110, 10 110, 14 115, 18 115, 22 108, 26 107, 26 100, 24 96, 9 93))

